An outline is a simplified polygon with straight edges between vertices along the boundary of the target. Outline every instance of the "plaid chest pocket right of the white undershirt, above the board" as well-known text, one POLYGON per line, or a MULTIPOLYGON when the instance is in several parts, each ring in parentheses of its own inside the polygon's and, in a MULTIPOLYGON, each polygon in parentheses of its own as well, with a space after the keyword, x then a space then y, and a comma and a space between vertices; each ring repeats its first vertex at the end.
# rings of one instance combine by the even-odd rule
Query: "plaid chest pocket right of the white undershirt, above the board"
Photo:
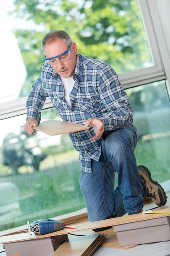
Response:
POLYGON ((96 113, 101 110, 101 102, 97 95, 88 98, 80 98, 79 106, 82 112, 96 113))

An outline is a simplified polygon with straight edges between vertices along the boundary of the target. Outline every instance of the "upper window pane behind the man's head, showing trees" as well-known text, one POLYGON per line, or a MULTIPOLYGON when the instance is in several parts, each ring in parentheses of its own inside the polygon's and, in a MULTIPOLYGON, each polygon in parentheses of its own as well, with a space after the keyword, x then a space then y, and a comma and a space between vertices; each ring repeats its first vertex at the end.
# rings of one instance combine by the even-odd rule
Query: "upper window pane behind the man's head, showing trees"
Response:
POLYGON ((28 96, 44 62, 41 40, 56 28, 70 33, 79 53, 108 62, 117 73, 153 65, 137 0, 7 0, 0 23, 7 39, 0 42, 2 84, 12 77, 0 102, 28 96))

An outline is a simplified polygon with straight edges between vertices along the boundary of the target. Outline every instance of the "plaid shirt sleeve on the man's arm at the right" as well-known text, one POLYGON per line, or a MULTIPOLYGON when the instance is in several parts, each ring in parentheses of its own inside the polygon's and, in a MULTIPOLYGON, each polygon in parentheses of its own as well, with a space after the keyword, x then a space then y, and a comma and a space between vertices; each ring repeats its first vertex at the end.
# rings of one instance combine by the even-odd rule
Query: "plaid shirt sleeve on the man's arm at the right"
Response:
POLYGON ((116 130, 133 122, 132 107, 116 72, 105 66, 99 77, 99 94, 108 113, 101 119, 106 131, 116 130))

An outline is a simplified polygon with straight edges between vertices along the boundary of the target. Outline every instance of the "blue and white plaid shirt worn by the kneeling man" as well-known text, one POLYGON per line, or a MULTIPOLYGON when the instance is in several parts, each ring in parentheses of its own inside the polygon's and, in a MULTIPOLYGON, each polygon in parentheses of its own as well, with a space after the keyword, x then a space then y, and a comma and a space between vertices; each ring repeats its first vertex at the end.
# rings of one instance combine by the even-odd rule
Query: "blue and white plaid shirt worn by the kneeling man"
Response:
POLYGON ((64 100, 60 76, 46 61, 28 96, 27 118, 34 117, 39 123, 40 110, 46 97, 50 97, 62 120, 85 125, 88 118, 102 119, 105 128, 102 138, 89 140, 95 135, 93 127, 69 134, 79 151, 82 171, 92 172, 91 158, 99 160, 102 140, 111 131, 133 122, 132 108, 116 72, 107 63, 78 54, 73 78, 70 106, 64 100))

